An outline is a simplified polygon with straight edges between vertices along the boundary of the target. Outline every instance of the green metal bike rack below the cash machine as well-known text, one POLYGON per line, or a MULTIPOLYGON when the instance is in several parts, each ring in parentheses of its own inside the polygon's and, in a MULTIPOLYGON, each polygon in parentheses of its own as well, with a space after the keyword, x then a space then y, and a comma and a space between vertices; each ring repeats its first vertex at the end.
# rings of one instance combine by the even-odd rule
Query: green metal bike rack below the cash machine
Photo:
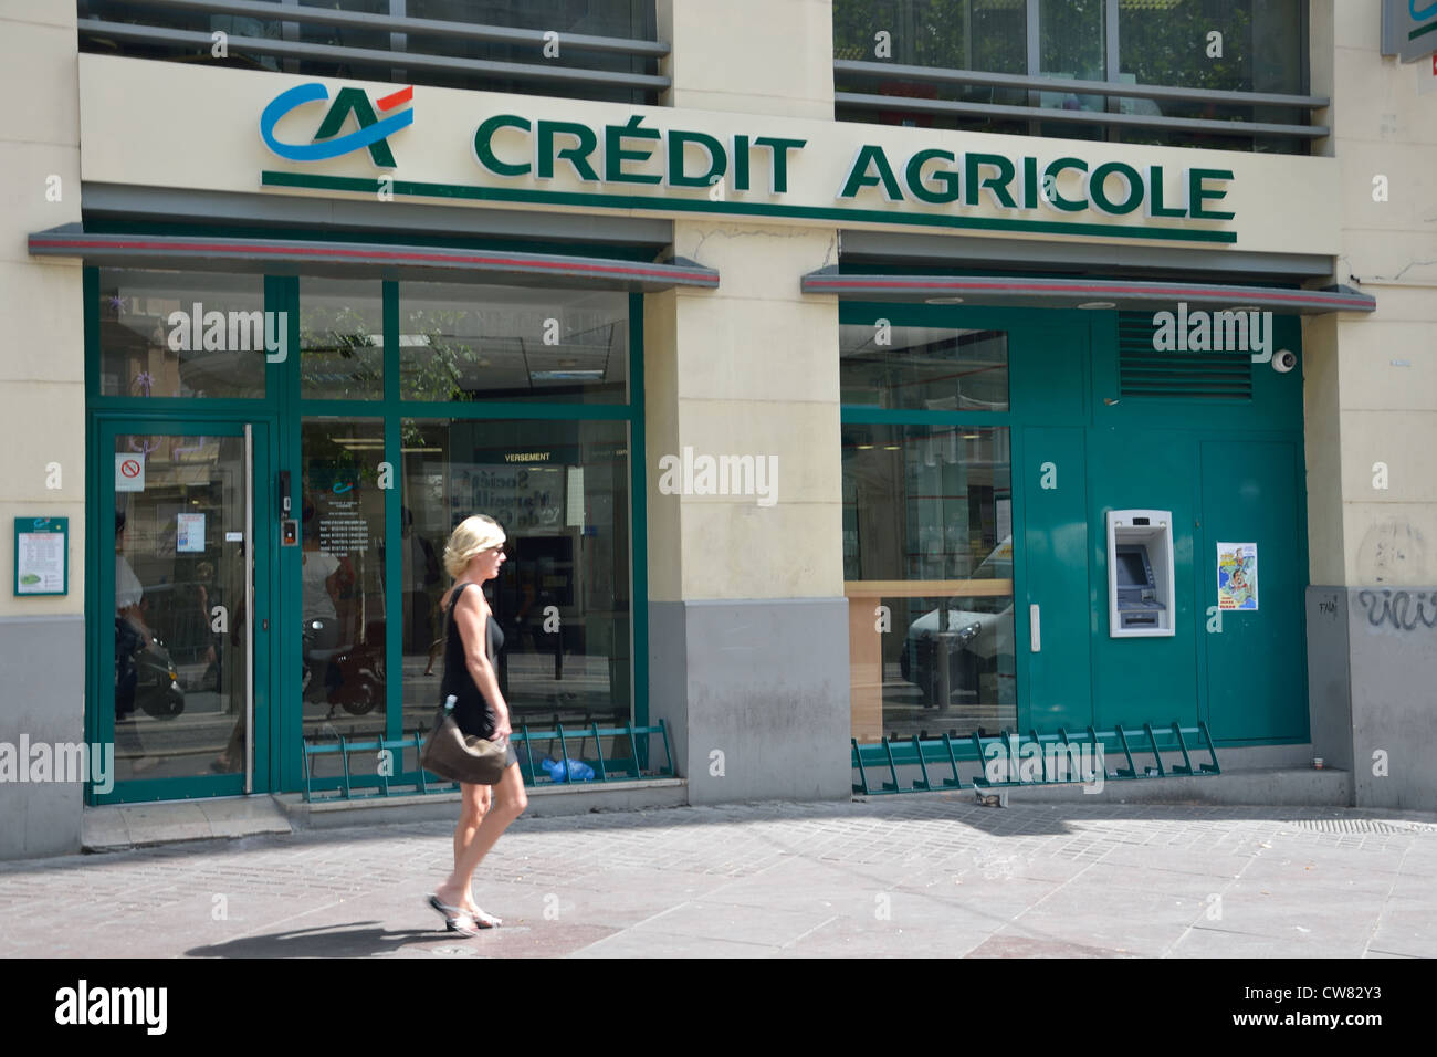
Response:
POLYGON ((1092 765, 1098 759, 1106 761, 1109 755, 1121 755, 1127 767, 1117 767, 1108 771, 1104 775, 1105 781, 1221 774, 1221 768, 1217 764, 1217 751, 1213 748, 1213 738, 1204 722, 1198 722, 1197 726, 1181 726, 1174 722, 1160 728, 1144 723, 1141 731, 1125 728, 1121 723, 1112 731, 1095 731, 1089 726, 1076 738, 1069 736, 1066 728, 1061 726, 1056 733, 1029 731, 1026 739, 1022 733, 1003 731, 994 736, 980 738, 974 733, 957 741, 948 735, 943 735, 938 739, 920 741, 914 735, 912 738, 902 739, 884 738, 882 741, 862 746, 856 739, 852 739, 851 745, 852 768, 858 771, 854 792, 865 797, 892 792, 930 792, 935 788, 996 790, 1022 785, 1083 782, 1088 781, 1082 774, 1083 767, 1079 765, 1076 769, 1072 769, 1068 765, 1073 764, 1075 759, 1086 759, 1092 765), (1129 735, 1134 739, 1131 742, 1128 741, 1129 735), (1194 739, 1194 742, 1190 743, 1190 739, 1194 739), (994 745, 1002 746, 999 754, 993 754, 992 746, 994 745), (1030 748, 1025 751, 1025 745, 1030 748), (1193 752, 1198 749, 1207 751, 1210 762, 1194 765, 1193 752), (1138 754, 1138 759, 1150 755, 1152 758, 1151 765, 1144 759, 1144 765, 1140 769, 1134 752, 1138 754), (1183 762, 1164 765, 1164 752, 1180 752, 1183 762), (989 778, 986 765, 990 758, 1006 761, 1003 781, 992 781, 989 778), (976 768, 976 774, 967 784, 964 784, 958 771, 960 759, 976 768), (1035 761, 1038 769, 1036 779, 1025 779, 1025 769, 1032 769, 1035 761), (1065 761, 1065 765, 1059 767, 1059 761, 1065 761), (930 771, 930 764, 935 764, 937 769, 930 771), (912 767, 918 768, 918 775, 904 787, 898 778, 898 768, 912 767), (943 771, 947 771, 947 775, 943 775, 943 771), (887 772, 887 777, 884 777, 884 772, 887 772))

